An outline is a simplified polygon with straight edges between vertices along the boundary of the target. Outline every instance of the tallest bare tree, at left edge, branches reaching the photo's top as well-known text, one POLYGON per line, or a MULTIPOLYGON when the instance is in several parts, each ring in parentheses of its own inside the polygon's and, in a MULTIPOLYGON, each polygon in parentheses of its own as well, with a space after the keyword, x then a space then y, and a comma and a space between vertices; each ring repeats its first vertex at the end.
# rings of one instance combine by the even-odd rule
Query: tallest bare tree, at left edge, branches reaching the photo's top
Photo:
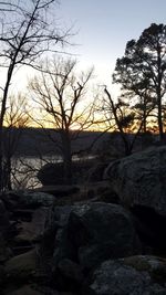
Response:
POLYGON ((69 31, 62 32, 49 14, 55 11, 55 0, 0 1, 0 66, 7 73, 1 85, 0 108, 0 189, 2 189, 3 120, 7 99, 15 70, 20 65, 39 69, 38 59, 48 51, 56 52, 58 44, 68 42, 69 31))

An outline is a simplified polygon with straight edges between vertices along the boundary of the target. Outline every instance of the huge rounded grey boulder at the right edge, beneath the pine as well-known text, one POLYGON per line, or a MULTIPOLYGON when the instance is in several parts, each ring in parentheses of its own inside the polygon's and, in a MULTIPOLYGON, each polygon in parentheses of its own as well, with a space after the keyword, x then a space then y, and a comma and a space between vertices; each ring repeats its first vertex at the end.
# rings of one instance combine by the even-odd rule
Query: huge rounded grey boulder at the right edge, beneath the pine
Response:
POLYGON ((166 147, 155 147, 111 164, 104 179, 108 179, 127 207, 145 206, 166 215, 166 147))

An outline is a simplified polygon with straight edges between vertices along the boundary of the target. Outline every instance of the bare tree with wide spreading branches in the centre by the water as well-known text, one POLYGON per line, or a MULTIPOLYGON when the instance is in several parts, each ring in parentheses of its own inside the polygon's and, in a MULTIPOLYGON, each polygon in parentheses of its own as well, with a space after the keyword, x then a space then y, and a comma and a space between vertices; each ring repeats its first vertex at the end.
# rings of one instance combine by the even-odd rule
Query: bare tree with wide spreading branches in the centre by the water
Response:
POLYGON ((45 125, 50 124, 59 134, 60 141, 55 141, 55 146, 63 158, 65 182, 72 181, 71 143, 92 125, 90 101, 84 104, 92 73, 91 69, 76 74, 76 61, 59 59, 49 63, 48 71, 41 72, 30 84, 35 102, 45 112, 45 125))

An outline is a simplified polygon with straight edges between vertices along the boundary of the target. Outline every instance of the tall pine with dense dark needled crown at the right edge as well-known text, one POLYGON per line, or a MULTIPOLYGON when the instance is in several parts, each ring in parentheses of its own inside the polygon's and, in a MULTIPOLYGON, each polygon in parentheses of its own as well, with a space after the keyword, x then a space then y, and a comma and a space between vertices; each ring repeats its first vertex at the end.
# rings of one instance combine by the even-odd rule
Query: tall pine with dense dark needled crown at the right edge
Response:
POLYGON ((146 119, 156 107, 162 140, 166 93, 166 25, 153 23, 143 31, 137 41, 127 42, 124 56, 116 61, 113 80, 122 84, 125 95, 135 99, 136 108, 144 116, 144 131, 146 119))

